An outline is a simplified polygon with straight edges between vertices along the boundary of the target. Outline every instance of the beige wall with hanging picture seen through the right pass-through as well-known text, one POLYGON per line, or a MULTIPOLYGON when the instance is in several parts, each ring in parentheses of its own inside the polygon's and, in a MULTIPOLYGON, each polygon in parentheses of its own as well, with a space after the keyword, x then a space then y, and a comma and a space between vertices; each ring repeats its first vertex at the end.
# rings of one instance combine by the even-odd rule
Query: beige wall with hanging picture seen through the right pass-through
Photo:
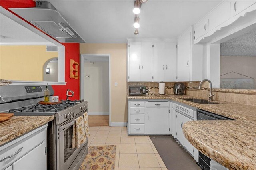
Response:
MULTIPOLYGON (((242 75, 254 78, 254 89, 256 89, 256 56, 255 57, 220 57, 220 75, 234 71, 242 75)), ((222 77, 225 78, 225 77, 222 77)), ((231 78, 231 77, 227 77, 231 78)), ((246 78, 244 76, 232 77, 232 78, 246 78)))

